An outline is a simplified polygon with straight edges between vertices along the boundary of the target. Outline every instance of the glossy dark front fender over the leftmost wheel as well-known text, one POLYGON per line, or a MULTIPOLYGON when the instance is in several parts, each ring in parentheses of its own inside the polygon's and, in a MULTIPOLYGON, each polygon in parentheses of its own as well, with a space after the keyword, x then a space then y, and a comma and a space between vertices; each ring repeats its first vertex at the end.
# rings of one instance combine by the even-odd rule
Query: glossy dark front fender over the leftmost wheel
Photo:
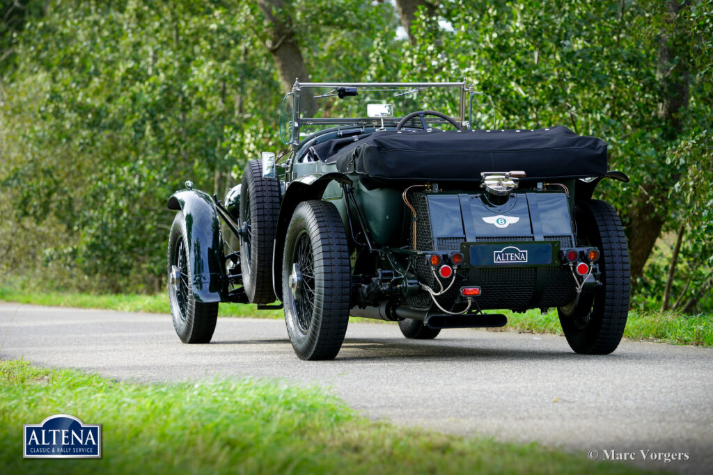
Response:
POLYGON ((198 302, 225 301, 225 256, 220 219, 212 198, 198 189, 182 189, 168 199, 168 209, 183 211, 193 297, 198 302))

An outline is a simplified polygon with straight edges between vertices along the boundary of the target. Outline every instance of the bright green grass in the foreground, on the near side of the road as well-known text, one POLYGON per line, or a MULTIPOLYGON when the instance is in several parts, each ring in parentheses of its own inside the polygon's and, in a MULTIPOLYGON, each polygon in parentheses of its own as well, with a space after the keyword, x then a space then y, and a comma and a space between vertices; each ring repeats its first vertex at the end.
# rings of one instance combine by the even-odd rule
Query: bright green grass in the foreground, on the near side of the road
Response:
POLYGON ((371 422, 317 387, 143 385, 17 360, 0 360, 0 463, 6 474, 635 473, 538 444, 371 422), (61 413, 103 424, 103 459, 22 459, 22 424, 61 413))

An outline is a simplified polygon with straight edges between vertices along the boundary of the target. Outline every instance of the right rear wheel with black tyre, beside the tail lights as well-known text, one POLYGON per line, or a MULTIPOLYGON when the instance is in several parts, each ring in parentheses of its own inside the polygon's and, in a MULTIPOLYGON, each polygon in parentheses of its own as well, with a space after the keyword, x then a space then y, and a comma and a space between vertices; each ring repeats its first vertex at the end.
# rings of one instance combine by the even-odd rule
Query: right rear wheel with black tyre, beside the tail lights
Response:
POLYGON ((600 200, 577 205, 578 239, 597 246, 602 286, 592 295, 581 296, 558 308, 560 324, 576 353, 608 355, 622 339, 629 314, 629 249, 617 212, 600 200))

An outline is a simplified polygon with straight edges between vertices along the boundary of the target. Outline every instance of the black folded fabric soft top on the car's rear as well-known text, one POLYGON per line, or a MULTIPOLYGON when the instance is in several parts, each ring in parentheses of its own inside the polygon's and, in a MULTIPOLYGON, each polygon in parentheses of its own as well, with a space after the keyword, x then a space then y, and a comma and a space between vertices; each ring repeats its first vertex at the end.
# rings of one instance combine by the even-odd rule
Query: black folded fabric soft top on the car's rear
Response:
POLYGON ((607 172, 607 144, 567 127, 538 130, 374 132, 313 147, 339 172, 392 180, 479 181, 481 172, 522 170, 527 179, 598 177, 607 172))

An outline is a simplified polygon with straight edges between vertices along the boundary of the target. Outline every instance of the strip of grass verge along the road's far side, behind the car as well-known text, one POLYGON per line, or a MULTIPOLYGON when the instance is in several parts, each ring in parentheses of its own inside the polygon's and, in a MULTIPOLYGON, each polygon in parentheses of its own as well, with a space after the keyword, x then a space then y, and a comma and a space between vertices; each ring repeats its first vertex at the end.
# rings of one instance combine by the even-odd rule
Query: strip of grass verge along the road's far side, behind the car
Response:
MULTIPOLYGON (((135 294, 94 295, 68 292, 27 292, 0 287, 0 301, 32 303, 34 305, 101 308, 125 312, 170 313, 168 296, 135 294)), ((540 315, 538 310, 525 313, 505 312, 508 325, 502 330, 524 333, 562 333, 556 310, 540 315)), ((222 317, 283 318, 282 310, 257 310, 252 304, 221 303, 222 317)), ((379 323, 380 320, 351 318, 350 321, 379 323)), ((629 313, 625 338, 652 340, 676 345, 713 346, 713 315, 682 315, 675 312, 629 313)))

